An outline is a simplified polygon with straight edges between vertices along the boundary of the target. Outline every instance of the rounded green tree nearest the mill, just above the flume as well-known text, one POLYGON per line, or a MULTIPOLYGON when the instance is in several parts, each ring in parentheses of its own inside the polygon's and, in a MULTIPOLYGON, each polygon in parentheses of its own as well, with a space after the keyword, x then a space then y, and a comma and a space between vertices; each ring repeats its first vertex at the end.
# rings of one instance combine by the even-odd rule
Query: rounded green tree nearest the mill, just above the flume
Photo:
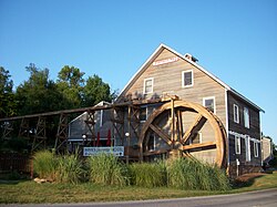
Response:
POLYGON ((114 97, 107 83, 98 75, 89 76, 83 89, 83 106, 93 106, 101 101, 111 102, 114 97))

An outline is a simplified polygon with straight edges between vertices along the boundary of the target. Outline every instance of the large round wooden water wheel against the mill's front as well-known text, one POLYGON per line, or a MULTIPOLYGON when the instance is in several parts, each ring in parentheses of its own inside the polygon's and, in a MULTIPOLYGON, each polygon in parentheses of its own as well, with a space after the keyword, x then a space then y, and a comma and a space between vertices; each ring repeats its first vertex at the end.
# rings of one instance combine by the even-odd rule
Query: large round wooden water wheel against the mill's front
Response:
POLYGON ((141 161, 157 155, 191 156, 220 167, 226 165, 226 132, 219 118, 204 106, 167 102, 144 123, 138 141, 141 161))

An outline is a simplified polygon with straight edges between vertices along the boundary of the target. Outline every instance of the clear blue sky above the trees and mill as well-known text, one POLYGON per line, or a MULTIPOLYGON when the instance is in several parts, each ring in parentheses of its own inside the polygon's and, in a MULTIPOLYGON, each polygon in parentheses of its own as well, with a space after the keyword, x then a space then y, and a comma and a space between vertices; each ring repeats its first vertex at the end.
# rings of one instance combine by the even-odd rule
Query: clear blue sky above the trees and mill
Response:
POLYGON ((264 108, 277 143, 277 1, 0 0, 0 65, 16 86, 32 62, 51 79, 68 64, 121 91, 161 43, 264 108))

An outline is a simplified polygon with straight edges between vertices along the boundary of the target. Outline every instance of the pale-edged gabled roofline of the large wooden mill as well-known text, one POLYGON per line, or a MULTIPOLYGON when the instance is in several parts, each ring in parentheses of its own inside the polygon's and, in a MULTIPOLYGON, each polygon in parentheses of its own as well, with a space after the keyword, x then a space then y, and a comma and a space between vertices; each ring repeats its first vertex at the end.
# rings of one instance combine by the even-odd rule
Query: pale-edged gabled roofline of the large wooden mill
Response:
POLYGON ((183 59, 184 61, 193 64, 195 68, 197 68, 198 70, 201 70, 202 72, 204 72, 206 75, 208 75, 209 77, 212 77, 214 81, 216 81, 218 84, 220 84, 223 87, 225 87, 225 90, 234 93, 235 95, 237 95, 238 97, 243 99, 245 102, 247 102, 248 104, 250 104, 252 106, 254 106, 255 108, 257 108, 260 112, 265 111, 263 108, 260 108, 259 106, 257 106, 255 103, 253 103, 252 101, 249 101, 248 99, 246 99, 244 95, 242 95, 240 93, 238 93, 237 91, 235 91, 234 89, 232 89, 229 85, 227 85, 226 83, 224 83, 222 80, 219 80, 217 76, 213 75, 212 73, 209 73, 208 71, 206 71, 204 68, 202 68, 201 65, 198 65, 196 62, 185 58, 185 55, 182 55, 181 53, 176 52, 175 50, 173 50, 172 48, 165 45, 165 44, 160 44, 160 46, 152 53, 152 55, 144 62, 144 64, 138 69, 138 71, 133 75, 133 77, 127 82, 127 84, 124 86, 124 89, 122 90, 122 92, 120 93, 120 96, 122 93, 124 93, 131 85, 132 83, 135 82, 135 80, 147 69, 147 66, 161 54, 161 52, 166 49, 168 51, 171 51, 172 53, 174 53, 176 56, 178 56, 179 59, 183 59))

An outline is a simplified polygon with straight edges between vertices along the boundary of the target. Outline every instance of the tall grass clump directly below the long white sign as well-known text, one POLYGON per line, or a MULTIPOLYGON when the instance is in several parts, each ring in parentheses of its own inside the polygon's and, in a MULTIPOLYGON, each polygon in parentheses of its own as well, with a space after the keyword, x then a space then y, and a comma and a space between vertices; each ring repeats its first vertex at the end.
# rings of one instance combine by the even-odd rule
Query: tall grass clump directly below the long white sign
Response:
POLYGON ((113 155, 100 154, 91 156, 88 158, 88 164, 89 179, 94 184, 119 186, 130 184, 126 165, 113 155))

